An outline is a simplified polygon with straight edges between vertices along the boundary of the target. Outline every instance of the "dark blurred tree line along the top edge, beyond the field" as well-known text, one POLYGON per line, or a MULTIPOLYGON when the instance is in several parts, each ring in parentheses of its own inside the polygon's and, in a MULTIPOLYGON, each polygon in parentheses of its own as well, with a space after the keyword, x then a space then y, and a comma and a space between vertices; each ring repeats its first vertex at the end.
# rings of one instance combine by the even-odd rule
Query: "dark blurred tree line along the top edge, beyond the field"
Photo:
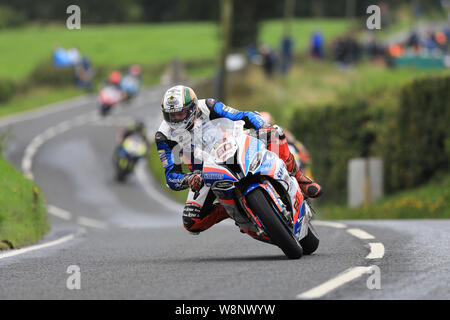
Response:
MULTIPOLYGON (((297 0, 295 16, 342 17, 347 14, 349 0, 297 0)), ((351 0, 350 0, 351 1, 351 0)), ((378 1, 353 0, 355 16, 365 15, 368 5, 378 1)), ((418 0, 429 6, 434 1, 418 0)), ((85 23, 107 22, 164 22, 164 21, 217 21, 220 0, 0 0, 2 7, 14 9, 26 21, 55 21, 66 17, 71 4, 81 7, 85 23)), ((390 6, 412 0, 384 0, 390 6)), ((235 0, 237 24, 260 19, 280 18, 283 0, 235 0)))

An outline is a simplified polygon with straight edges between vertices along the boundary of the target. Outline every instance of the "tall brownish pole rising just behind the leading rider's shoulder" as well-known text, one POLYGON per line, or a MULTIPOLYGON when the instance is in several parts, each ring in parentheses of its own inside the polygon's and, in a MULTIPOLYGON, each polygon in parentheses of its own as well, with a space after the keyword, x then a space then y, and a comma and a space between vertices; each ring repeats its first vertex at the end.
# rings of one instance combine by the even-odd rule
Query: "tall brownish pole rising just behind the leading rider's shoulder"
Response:
POLYGON ((233 17, 233 0, 220 0, 221 43, 219 74, 216 82, 216 96, 222 101, 226 99, 227 69, 226 61, 230 50, 231 20, 233 17))

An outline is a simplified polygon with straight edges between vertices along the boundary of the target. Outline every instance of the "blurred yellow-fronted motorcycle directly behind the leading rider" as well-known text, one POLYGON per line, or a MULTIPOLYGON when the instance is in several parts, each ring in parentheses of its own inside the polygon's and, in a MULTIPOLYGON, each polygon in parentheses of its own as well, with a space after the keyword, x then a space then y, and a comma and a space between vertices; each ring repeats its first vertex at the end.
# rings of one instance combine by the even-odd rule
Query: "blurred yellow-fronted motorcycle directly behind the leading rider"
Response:
POLYGON ((125 138, 113 156, 116 180, 125 182, 127 176, 134 171, 136 163, 147 154, 147 151, 147 143, 140 135, 134 134, 125 138))

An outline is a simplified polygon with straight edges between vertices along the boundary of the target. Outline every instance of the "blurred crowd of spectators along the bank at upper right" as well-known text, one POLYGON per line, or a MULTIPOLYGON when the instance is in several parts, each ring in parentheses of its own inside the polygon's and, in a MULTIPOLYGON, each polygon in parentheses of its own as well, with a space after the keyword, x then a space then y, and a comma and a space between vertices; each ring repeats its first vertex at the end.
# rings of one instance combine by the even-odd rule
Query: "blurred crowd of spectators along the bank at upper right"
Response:
MULTIPOLYGON (((322 32, 311 33, 308 55, 317 60, 331 59, 340 69, 348 69, 363 59, 394 67, 401 65, 397 58, 408 60, 409 65, 450 67, 450 27, 449 25, 429 25, 415 29, 406 37, 399 37, 398 41, 387 42, 375 38, 373 32, 367 32, 361 40, 360 35, 349 33, 337 37, 327 44, 322 32), (435 60, 439 63, 427 63, 435 60)), ((276 72, 285 75, 294 60, 294 42, 290 37, 283 37, 280 47, 274 49, 268 44, 260 47, 247 47, 247 57, 250 62, 261 65, 268 79, 276 72)))

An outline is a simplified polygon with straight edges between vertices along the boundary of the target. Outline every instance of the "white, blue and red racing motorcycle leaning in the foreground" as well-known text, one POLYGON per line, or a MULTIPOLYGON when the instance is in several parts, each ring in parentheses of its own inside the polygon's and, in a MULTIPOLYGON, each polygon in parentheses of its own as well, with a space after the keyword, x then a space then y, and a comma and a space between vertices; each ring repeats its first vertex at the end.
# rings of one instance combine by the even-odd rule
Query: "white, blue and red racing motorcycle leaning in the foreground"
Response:
POLYGON ((194 129, 194 141, 205 185, 241 230, 277 245, 290 259, 317 249, 310 202, 283 160, 244 131, 243 121, 212 120, 194 129))

